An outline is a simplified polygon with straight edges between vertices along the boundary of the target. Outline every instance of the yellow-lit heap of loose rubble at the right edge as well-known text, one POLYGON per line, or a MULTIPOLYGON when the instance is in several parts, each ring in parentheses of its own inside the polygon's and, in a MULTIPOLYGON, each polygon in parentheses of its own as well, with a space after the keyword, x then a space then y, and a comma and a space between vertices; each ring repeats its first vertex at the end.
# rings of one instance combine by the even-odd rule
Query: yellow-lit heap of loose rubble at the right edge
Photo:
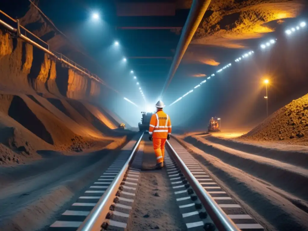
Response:
POLYGON ((308 94, 280 108, 241 138, 308 145, 308 94))

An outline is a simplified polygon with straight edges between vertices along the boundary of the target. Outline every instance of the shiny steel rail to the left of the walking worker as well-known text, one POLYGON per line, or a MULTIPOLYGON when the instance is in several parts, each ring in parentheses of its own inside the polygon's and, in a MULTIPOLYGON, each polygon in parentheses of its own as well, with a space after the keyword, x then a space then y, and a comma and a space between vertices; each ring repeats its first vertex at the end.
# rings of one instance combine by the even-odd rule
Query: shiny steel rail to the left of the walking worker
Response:
POLYGON ((115 193, 118 191, 118 188, 123 180, 126 170, 128 169, 128 165, 138 148, 140 141, 144 135, 140 136, 139 140, 136 142, 134 149, 132 150, 131 155, 128 157, 128 160, 125 162, 123 168, 115 176, 115 179, 111 182, 103 196, 99 199, 95 207, 91 210, 91 213, 87 216, 87 218, 83 221, 83 223, 79 226, 77 231, 91 231, 91 230, 101 230, 101 225, 106 218, 107 213, 109 212, 109 207, 113 203, 113 198, 115 193))

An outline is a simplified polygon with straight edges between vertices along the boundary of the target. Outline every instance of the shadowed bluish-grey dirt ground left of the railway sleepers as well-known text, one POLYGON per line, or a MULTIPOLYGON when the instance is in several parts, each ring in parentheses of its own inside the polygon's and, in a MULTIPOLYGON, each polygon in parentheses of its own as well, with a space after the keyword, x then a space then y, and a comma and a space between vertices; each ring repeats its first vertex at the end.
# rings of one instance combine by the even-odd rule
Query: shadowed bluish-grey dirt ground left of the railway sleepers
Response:
MULTIPOLYGON (((33 163, 34 168, 31 164, 21 166, 26 177, 13 174, 11 179, 14 181, 6 182, 0 188, 0 230, 47 230, 109 167, 124 145, 116 150, 105 149, 86 156, 42 160, 33 163)), ((2 180, 12 171, 10 168, 5 170, 0 177, 2 180)))

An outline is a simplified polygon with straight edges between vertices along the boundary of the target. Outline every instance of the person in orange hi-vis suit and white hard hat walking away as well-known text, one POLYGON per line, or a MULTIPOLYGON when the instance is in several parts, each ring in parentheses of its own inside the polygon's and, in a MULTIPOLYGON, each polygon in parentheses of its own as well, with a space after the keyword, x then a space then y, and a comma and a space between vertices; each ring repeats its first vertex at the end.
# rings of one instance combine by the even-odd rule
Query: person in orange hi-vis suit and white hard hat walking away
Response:
POLYGON ((153 140, 156 155, 156 169, 164 167, 164 154, 166 140, 171 136, 170 117, 163 111, 162 101, 156 103, 156 113, 152 115, 149 127, 149 140, 153 140))

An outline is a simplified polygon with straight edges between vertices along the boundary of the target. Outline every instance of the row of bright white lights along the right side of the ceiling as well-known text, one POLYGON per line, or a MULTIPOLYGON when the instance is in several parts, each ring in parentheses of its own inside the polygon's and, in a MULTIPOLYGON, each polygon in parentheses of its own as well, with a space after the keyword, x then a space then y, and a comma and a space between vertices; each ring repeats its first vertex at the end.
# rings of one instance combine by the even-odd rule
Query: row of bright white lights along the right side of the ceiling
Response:
MULTIPOLYGON (((290 30, 286 30, 286 34, 290 35, 293 32, 295 32, 296 30, 299 30, 301 27, 304 28, 306 26, 306 22, 301 22, 299 23, 299 26, 296 26, 295 28, 292 27, 290 30)), ((266 43, 262 43, 260 45, 260 47, 262 49, 265 49, 266 47, 270 47, 271 45, 275 44, 277 41, 277 39, 271 39, 270 41, 266 42, 266 43)), ((245 53, 244 55, 242 55, 242 57, 239 57, 237 59, 235 59, 235 62, 239 62, 242 59, 248 58, 250 55, 252 55, 254 52, 253 51, 249 51, 248 53, 245 53)), ((227 67, 230 67, 232 64, 229 63, 228 65, 226 65, 225 67, 219 69, 216 73, 219 73, 221 71, 223 71, 224 69, 226 69, 227 67)), ((215 76, 215 74, 210 75, 209 77, 207 77, 207 79, 210 79, 211 77, 215 76)), ((200 87, 203 83, 205 83, 206 80, 203 80, 200 84, 198 84, 196 87, 194 87, 194 89, 200 87)), ((181 96, 180 98, 176 99, 176 101, 174 101, 173 103, 171 103, 169 106, 177 103, 178 101, 180 101, 181 99, 183 99, 185 96, 187 96, 188 94, 192 93, 193 90, 188 91, 187 93, 185 93, 183 96, 181 96)))

